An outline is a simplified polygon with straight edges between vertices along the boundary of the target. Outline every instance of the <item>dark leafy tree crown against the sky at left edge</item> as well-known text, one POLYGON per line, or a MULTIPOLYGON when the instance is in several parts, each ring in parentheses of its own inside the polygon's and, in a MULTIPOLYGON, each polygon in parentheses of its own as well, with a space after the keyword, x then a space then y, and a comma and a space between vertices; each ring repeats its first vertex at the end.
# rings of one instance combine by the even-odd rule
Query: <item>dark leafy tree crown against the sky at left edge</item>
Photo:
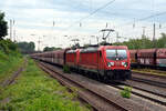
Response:
POLYGON ((0 40, 8 34, 8 22, 4 20, 4 13, 0 11, 0 40))

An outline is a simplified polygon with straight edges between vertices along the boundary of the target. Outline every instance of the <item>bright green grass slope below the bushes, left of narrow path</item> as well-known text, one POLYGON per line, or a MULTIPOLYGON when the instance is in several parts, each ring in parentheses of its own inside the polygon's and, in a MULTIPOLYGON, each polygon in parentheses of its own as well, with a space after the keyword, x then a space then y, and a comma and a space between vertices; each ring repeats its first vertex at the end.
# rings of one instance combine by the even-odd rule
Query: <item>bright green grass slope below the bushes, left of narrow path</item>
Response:
POLYGON ((22 65, 22 62, 21 54, 6 54, 0 50, 0 83, 17 71, 22 65))

